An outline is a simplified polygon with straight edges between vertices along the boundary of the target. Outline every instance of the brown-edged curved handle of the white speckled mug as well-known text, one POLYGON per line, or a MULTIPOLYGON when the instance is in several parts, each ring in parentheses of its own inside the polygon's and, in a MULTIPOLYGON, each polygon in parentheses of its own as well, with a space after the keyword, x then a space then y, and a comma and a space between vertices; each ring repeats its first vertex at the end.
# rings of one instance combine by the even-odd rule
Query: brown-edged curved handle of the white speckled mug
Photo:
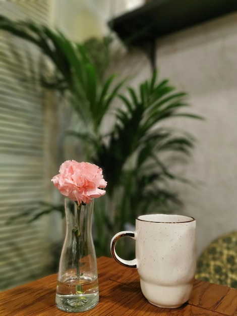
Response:
POLYGON ((125 260, 125 259, 122 259, 120 256, 118 256, 116 253, 116 250, 115 250, 116 242, 118 239, 124 236, 129 236, 132 239, 136 240, 137 234, 136 232, 129 231, 129 230, 125 230, 125 231, 115 234, 112 237, 111 242, 110 242, 110 250, 111 250, 112 257, 114 258, 115 261, 118 262, 118 264, 121 264, 122 266, 129 267, 129 268, 137 268, 137 259, 125 260))

